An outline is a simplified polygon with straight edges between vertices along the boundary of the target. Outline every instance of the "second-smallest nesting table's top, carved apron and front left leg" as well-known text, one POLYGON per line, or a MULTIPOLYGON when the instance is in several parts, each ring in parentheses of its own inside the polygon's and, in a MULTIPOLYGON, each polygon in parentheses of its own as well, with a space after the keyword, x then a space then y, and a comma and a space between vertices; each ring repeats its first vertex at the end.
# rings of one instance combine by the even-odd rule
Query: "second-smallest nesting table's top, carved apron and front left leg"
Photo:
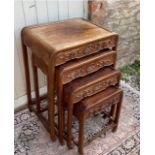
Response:
POLYGON ((72 148, 72 115, 74 104, 82 99, 97 94, 109 86, 117 86, 120 72, 110 67, 103 68, 83 78, 74 80, 64 86, 63 102, 67 107, 67 145, 72 148))

